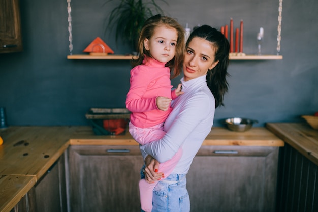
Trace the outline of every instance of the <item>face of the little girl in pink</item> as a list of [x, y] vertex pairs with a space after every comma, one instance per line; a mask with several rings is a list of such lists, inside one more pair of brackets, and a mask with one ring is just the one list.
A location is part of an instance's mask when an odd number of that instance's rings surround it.
[[178, 32], [175, 28], [157, 26], [151, 38], [144, 40], [144, 46], [155, 60], [167, 63], [176, 53], [177, 40]]

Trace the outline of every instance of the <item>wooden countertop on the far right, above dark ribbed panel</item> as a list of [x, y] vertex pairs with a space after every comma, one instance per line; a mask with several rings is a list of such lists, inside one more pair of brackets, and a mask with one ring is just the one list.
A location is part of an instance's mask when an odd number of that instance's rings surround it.
[[318, 130], [307, 123], [267, 123], [266, 128], [318, 166]]

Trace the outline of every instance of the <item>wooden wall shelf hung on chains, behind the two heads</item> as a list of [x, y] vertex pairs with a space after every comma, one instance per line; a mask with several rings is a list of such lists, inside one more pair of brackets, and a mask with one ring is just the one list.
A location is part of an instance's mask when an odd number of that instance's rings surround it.
[[[68, 55], [68, 59], [121, 59], [131, 60], [132, 55], [89, 55], [89, 54], [73, 54]], [[282, 59], [282, 55], [233, 55], [230, 54], [230, 60], [278, 60]]]

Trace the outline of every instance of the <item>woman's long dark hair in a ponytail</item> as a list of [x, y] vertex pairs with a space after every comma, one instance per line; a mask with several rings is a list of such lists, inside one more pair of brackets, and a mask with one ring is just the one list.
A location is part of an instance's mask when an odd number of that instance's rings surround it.
[[195, 37], [203, 38], [214, 46], [214, 61], [218, 61], [218, 63], [213, 69], [208, 70], [206, 82], [215, 98], [215, 108], [221, 105], [224, 106], [223, 97], [228, 91], [229, 85], [226, 79], [226, 77], [229, 76], [227, 72], [230, 52], [229, 41], [221, 32], [208, 25], [194, 28], [194, 31], [190, 34], [186, 42], [186, 46], [188, 46], [189, 42]]

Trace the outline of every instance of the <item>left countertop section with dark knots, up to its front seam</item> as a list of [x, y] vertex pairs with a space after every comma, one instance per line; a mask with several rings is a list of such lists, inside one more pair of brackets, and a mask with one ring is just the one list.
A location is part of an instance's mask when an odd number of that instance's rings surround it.
[[9, 127], [0, 131], [0, 175], [34, 176], [36, 181], [68, 148], [78, 127]]

